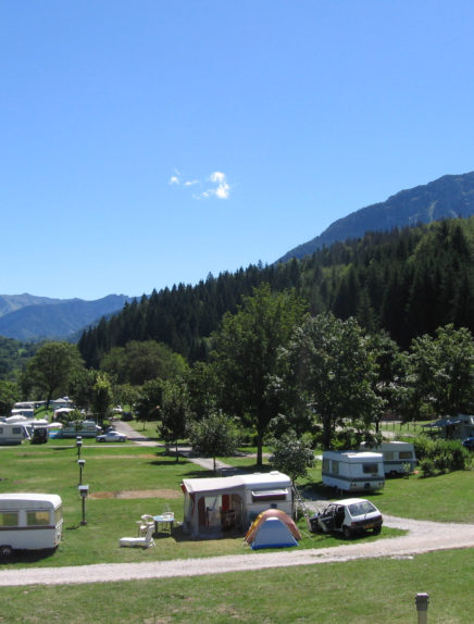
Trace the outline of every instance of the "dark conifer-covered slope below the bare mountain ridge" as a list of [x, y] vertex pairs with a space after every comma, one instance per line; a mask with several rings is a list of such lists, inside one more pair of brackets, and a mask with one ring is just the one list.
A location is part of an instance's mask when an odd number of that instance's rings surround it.
[[303, 260], [153, 291], [87, 329], [80, 352], [97, 367], [112, 347], [153, 339], [190, 361], [205, 359], [205, 338], [222, 315], [264, 282], [275, 291], [294, 288], [313, 314], [330, 310], [369, 330], [385, 328], [402, 347], [447, 323], [474, 330], [474, 217], [369, 233]]

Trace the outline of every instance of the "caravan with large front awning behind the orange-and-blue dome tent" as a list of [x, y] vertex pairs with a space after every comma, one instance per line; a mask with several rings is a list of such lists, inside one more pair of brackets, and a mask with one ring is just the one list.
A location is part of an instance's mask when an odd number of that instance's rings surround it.
[[192, 537], [223, 529], [247, 531], [265, 509], [292, 513], [291, 479], [277, 471], [183, 479], [183, 528]]

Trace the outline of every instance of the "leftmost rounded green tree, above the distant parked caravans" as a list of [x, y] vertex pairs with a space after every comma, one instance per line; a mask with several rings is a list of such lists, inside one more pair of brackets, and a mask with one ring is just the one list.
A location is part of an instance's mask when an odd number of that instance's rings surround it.
[[70, 342], [47, 342], [29, 360], [22, 376], [25, 391], [46, 392], [46, 407], [54, 392], [66, 392], [73, 375], [83, 367], [83, 361], [75, 345]]

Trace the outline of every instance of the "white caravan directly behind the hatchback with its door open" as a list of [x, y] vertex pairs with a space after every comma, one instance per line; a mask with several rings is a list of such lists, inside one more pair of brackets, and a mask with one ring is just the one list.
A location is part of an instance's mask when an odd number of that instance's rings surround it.
[[323, 484], [344, 491], [373, 491], [385, 485], [382, 453], [324, 451]]

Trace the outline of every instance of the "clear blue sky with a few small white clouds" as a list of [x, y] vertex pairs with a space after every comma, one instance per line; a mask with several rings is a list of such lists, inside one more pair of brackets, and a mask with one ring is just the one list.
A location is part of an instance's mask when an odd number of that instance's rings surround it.
[[1, 0], [0, 294], [272, 263], [474, 170], [471, 0]]

